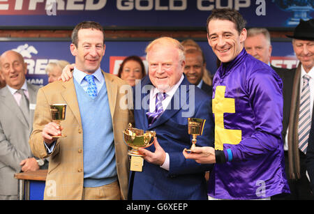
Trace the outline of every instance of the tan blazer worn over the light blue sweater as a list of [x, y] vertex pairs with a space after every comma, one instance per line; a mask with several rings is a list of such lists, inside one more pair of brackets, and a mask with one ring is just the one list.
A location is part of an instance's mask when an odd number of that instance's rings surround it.
[[[103, 75], [112, 116], [118, 180], [122, 199], [126, 199], [129, 163], [128, 147], [124, 144], [122, 130], [128, 127], [129, 122], [133, 123], [133, 112], [130, 112], [128, 107], [123, 104], [129, 101], [129, 104], [132, 105], [131, 89], [119, 77], [105, 72]], [[54, 146], [54, 151], [48, 155], [41, 132], [44, 125], [52, 121], [50, 105], [54, 103], [67, 104], [66, 120], [61, 122], [62, 133], [66, 137], [59, 138], [56, 146]], [[99, 131], [101, 131], [101, 127]], [[29, 144], [31, 151], [38, 158], [51, 157], [44, 199], [82, 199], [84, 179], [83, 131], [73, 79], [70, 79], [69, 82], [53, 82], [38, 91], [33, 132]]]

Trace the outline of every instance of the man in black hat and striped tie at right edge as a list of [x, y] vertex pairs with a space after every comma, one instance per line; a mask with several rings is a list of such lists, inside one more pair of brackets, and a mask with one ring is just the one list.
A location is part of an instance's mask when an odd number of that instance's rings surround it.
[[[287, 129], [289, 185], [292, 199], [314, 199], [306, 176], [307, 147], [313, 141], [309, 133], [311, 123], [313, 125], [314, 19], [300, 20], [293, 36], [288, 37], [292, 38], [294, 53], [300, 61], [292, 84], [290, 120]], [[311, 171], [308, 172], [311, 174]], [[313, 177], [311, 181], [313, 182]]]

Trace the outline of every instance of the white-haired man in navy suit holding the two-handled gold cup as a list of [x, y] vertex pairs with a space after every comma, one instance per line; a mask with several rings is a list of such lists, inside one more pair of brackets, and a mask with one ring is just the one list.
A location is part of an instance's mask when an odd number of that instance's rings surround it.
[[132, 199], [207, 199], [204, 171], [211, 165], [186, 160], [182, 151], [191, 146], [188, 117], [207, 120], [197, 146], [213, 146], [211, 99], [184, 77], [184, 58], [184, 47], [173, 38], [158, 38], [147, 46], [149, 76], [133, 91], [135, 128], [156, 131], [156, 139], [140, 149], [145, 161], [142, 171], [131, 173]]

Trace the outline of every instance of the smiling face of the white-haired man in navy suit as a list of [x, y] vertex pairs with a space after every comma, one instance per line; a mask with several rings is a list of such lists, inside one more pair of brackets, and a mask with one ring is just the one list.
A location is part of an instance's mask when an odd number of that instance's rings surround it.
[[156, 43], [147, 53], [149, 79], [162, 92], [179, 82], [184, 72], [184, 60], [179, 60], [179, 49], [172, 43]]

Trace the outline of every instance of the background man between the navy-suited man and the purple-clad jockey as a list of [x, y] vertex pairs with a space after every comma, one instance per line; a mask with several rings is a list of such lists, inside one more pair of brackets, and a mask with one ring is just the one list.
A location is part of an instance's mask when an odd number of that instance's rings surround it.
[[184, 73], [188, 82], [195, 84], [208, 95], [212, 95], [213, 87], [206, 84], [202, 78], [206, 71], [206, 61], [204, 54], [199, 49], [186, 50], [186, 66], [184, 67]]

